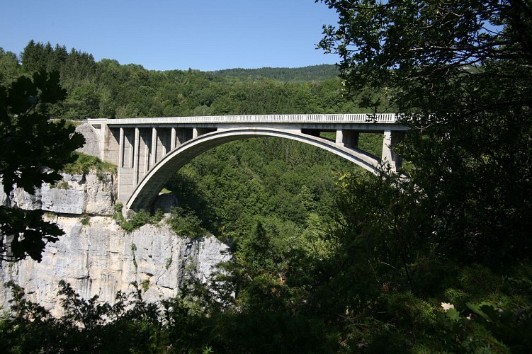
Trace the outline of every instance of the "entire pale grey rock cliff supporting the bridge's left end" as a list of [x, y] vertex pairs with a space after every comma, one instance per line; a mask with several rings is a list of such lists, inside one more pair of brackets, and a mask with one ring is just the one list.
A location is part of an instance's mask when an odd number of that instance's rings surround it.
[[217, 263], [230, 259], [228, 247], [214, 236], [183, 238], [164, 220], [125, 232], [111, 217], [115, 195], [111, 175], [64, 176], [64, 181], [58, 183], [60, 188], [43, 185], [35, 195], [22, 190], [9, 198], [0, 195], [4, 205], [55, 212], [49, 217], [65, 232], [46, 247], [40, 263], [30, 259], [0, 263], [0, 306], [4, 309], [9, 308], [11, 296], [4, 288], [8, 280], [24, 287], [31, 301], [60, 314], [60, 280], [69, 282], [85, 299], [98, 295], [110, 303], [118, 290], [130, 292], [130, 283], [137, 282], [143, 297], [154, 302], [177, 295], [187, 278], [207, 281]]

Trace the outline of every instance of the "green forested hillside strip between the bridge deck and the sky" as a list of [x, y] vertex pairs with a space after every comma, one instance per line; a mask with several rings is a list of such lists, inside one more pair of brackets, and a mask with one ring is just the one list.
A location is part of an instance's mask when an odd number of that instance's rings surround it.
[[0, 49], [0, 83], [38, 70], [60, 72], [67, 99], [55, 118], [173, 117], [276, 113], [364, 113], [342, 99], [336, 67], [157, 72], [79, 50], [30, 41], [21, 55]]

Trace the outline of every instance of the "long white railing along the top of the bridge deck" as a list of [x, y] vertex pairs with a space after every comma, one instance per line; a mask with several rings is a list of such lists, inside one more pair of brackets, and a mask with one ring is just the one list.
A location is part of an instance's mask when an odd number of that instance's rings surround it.
[[[89, 122], [93, 121], [89, 119]], [[96, 120], [94, 120], [96, 121]], [[202, 115], [196, 117], [120, 118], [108, 119], [107, 124], [165, 123], [395, 123], [395, 113], [366, 114], [278, 114], [278, 115]]]

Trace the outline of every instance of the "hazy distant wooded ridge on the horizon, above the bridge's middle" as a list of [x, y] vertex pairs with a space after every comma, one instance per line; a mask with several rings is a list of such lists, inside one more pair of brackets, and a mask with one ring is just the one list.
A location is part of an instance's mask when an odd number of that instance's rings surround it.
[[262, 67], [259, 69], [223, 69], [209, 72], [214, 76], [268, 78], [285, 82], [324, 81], [334, 79], [339, 70], [334, 64], [311, 65], [309, 67]]

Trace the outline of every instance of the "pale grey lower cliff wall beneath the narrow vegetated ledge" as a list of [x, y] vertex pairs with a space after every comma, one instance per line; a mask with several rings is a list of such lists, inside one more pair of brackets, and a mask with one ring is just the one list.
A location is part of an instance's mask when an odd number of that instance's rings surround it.
[[[0, 278], [26, 288], [28, 299], [60, 312], [57, 283], [69, 282], [81, 297], [98, 295], [113, 303], [116, 292], [129, 292], [137, 282], [143, 297], [154, 302], [174, 297], [187, 278], [206, 281], [227, 246], [214, 237], [181, 238], [162, 221], [127, 233], [110, 217], [91, 217], [84, 225], [76, 217], [57, 217], [66, 233], [46, 247], [43, 261], [1, 263]], [[0, 304], [7, 307], [9, 291], [0, 287]]]

